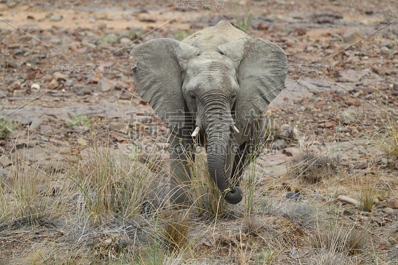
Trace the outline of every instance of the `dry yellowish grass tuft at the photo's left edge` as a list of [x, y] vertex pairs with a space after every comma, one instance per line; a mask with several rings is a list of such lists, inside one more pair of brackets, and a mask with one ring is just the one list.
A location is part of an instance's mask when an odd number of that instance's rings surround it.
[[66, 200], [55, 196], [50, 174], [25, 161], [13, 162], [13, 167], [10, 177], [0, 179], [0, 231], [57, 227]]

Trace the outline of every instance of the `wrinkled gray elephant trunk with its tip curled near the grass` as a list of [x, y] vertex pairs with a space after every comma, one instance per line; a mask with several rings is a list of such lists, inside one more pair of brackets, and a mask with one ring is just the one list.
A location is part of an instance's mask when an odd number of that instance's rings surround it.
[[224, 199], [228, 203], [236, 204], [242, 200], [242, 191], [238, 186], [231, 187], [229, 176], [225, 174], [226, 152], [232, 118], [220, 113], [212, 113], [211, 117], [213, 118], [205, 126], [208, 137], [208, 170], [218, 189], [223, 193]]

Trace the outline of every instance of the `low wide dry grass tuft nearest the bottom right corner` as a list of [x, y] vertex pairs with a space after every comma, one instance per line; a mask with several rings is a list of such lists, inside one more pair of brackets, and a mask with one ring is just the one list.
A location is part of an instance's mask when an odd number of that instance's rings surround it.
[[308, 240], [311, 247], [318, 251], [355, 255], [364, 249], [367, 237], [367, 233], [360, 228], [346, 229], [333, 222], [318, 226]]

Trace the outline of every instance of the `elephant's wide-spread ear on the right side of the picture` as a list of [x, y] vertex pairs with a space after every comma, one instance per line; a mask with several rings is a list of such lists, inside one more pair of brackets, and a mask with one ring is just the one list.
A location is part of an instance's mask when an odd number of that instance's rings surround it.
[[[278, 45], [262, 38], [241, 38], [218, 46], [238, 64], [237, 123], [251, 123], [285, 85], [287, 56]], [[249, 102], [249, 103], [248, 103]]]

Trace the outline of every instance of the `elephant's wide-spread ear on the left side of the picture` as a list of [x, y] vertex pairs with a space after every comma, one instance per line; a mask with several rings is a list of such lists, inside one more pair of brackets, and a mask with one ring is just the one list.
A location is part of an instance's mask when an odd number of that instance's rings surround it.
[[173, 122], [170, 113], [184, 111], [182, 75], [198, 53], [198, 48], [170, 38], [153, 39], [131, 51], [135, 89], [166, 122]]

